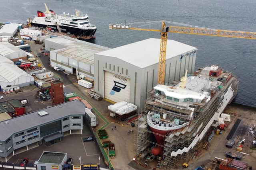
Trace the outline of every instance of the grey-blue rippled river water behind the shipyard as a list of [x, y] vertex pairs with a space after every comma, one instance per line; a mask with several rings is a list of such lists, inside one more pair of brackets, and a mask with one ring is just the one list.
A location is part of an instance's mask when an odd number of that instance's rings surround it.
[[[0, 22], [24, 23], [45, 11], [44, 3], [57, 14], [87, 13], [98, 27], [93, 43], [114, 48], [147, 38], [158, 32], [109, 30], [109, 23], [168, 20], [214, 29], [256, 31], [255, 0], [0, 0]], [[144, 25], [144, 24], [141, 24]], [[134, 25], [134, 26], [140, 26]], [[160, 24], [145, 28], [159, 29]], [[198, 48], [196, 69], [216, 64], [240, 79], [235, 101], [256, 107], [256, 40], [170, 34], [174, 39]], [[143, 49], [142, 49], [143, 50]], [[158, 57], [158, 56], [156, 56]]]

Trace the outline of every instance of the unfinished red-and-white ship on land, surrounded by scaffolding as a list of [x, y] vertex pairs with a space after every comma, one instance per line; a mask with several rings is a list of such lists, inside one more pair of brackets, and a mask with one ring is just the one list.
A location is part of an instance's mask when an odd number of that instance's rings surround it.
[[158, 84], [138, 118], [137, 159], [150, 155], [162, 166], [187, 162], [238, 91], [238, 78], [216, 65]]

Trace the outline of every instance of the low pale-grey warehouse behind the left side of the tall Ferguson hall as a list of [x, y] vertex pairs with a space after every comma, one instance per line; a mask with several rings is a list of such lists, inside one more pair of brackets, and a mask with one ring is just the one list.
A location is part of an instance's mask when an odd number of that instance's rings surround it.
[[94, 78], [94, 54], [109, 49], [66, 36], [45, 39], [45, 47], [50, 51], [52, 66], [90, 78]]

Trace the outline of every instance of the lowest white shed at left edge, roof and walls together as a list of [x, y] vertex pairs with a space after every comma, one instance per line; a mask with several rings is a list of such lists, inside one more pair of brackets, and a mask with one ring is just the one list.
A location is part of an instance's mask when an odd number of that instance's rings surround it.
[[0, 63], [0, 91], [8, 85], [24, 87], [30, 84], [34, 84], [33, 76], [14, 64]]

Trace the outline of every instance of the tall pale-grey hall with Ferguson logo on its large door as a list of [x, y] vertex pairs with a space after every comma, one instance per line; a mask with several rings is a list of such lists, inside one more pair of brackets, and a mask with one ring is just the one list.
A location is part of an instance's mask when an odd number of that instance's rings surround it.
[[[140, 112], [157, 85], [160, 39], [146, 39], [94, 55], [94, 90], [113, 102], [135, 104]], [[196, 47], [168, 40], [165, 82], [194, 73]]]

